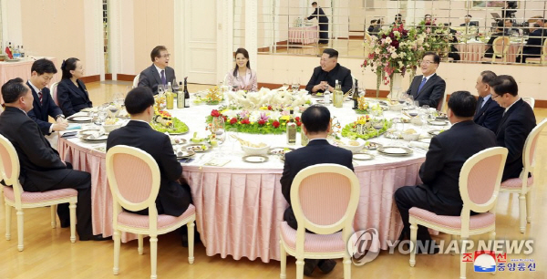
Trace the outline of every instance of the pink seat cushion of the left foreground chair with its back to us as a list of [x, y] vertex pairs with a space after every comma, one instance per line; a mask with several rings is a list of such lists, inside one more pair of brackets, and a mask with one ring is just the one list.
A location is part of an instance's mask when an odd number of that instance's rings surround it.
[[[182, 215], [179, 217], [160, 214], [158, 215], [158, 229], [163, 229], [169, 227], [176, 222], [181, 222], [181, 220], [184, 220], [195, 213], [196, 208], [191, 204], [188, 206], [186, 212], [182, 213]], [[149, 227], [149, 216], [139, 215], [131, 212], [121, 212], [118, 214], [118, 223], [133, 228], [146, 229]]]

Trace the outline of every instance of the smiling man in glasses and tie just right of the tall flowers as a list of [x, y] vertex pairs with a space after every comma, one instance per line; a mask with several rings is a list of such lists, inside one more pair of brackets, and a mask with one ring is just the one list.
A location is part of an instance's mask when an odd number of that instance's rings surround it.
[[420, 107], [428, 105], [429, 108], [439, 109], [439, 104], [447, 88], [444, 79], [436, 74], [439, 63], [440, 57], [436, 53], [426, 52], [420, 62], [422, 75], [414, 77], [407, 90], [407, 94], [417, 100]]

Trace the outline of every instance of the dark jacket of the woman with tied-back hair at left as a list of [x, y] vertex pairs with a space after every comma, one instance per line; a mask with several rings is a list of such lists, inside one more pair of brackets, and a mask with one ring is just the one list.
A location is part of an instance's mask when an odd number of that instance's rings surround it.
[[57, 85], [57, 101], [66, 117], [77, 113], [81, 109], [93, 108], [86, 85], [79, 79], [76, 82], [78, 86], [70, 78], [64, 78]]

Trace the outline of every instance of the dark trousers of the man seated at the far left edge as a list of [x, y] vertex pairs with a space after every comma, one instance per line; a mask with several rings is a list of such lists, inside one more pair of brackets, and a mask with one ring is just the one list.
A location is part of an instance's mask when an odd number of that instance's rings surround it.
[[[77, 191], [76, 207], [76, 231], [80, 239], [88, 238], [93, 235], [93, 226], [91, 224], [91, 174], [86, 171], [74, 171], [72, 165], [67, 162], [68, 171], [65, 179], [49, 187], [43, 184], [36, 184], [31, 180], [25, 181], [25, 191], [52, 191], [60, 189], [75, 189]], [[70, 222], [70, 212], [68, 203], [57, 205], [57, 215], [61, 223]]]

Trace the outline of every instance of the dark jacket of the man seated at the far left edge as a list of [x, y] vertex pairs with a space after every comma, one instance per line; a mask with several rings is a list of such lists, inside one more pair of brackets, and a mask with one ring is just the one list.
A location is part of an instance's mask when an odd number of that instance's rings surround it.
[[[21, 174], [19, 181], [25, 191], [46, 191], [65, 179], [71, 170], [59, 158], [57, 150], [44, 137], [42, 130], [23, 110], [6, 107], [0, 115], [0, 134], [17, 151]], [[26, 189], [26, 181], [39, 189]]]

